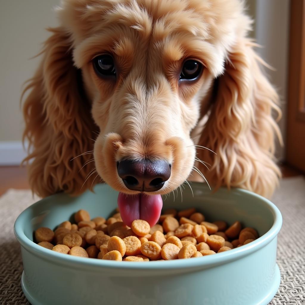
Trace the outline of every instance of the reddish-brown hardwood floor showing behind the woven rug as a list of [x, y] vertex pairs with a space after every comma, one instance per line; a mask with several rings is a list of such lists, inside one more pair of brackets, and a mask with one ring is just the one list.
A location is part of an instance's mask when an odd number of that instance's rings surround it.
[[[302, 174], [299, 170], [287, 164], [282, 164], [280, 167], [283, 177], [294, 177]], [[9, 188], [29, 188], [25, 167], [0, 166], [0, 195], [4, 194]]]

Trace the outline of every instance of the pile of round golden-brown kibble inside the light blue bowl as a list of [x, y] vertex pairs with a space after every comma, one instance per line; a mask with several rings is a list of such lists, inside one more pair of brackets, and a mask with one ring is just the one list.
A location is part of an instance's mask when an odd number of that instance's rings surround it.
[[87, 211], [79, 210], [74, 218], [76, 223], [63, 221], [55, 231], [38, 228], [34, 232], [38, 245], [78, 257], [148, 262], [204, 257], [241, 247], [259, 237], [254, 228], [242, 229], [239, 221], [231, 225], [223, 220], [208, 222], [194, 208], [165, 210], [152, 227], [140, 219], [128, 227], [119, 210], [108, 219], [91, 219]]

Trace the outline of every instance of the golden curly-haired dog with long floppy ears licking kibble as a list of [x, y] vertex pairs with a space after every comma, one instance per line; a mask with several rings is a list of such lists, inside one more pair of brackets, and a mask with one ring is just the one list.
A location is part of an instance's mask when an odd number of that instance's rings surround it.
[[153, 223], [160, 195], [191, 178], [272, 194], [281, 111], [243, 1], [63, 0], [56, 11], [24, 90], [35, 193], [104, 181], [127, 224]]

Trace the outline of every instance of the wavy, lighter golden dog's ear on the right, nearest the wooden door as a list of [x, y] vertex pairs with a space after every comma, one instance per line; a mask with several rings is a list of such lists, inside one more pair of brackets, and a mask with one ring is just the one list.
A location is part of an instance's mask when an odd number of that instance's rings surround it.
[[210, 170], [200, 169], [214, 187], [241, 187], [268, 197], [281, 175], [273, 156], [275, 135], [282, 140], [271, 112], [281, 113], [254, 45], [242, 38], [232, 48], [198, 143], [216, 154], [200, 149], [198, 156], [210, 163]]

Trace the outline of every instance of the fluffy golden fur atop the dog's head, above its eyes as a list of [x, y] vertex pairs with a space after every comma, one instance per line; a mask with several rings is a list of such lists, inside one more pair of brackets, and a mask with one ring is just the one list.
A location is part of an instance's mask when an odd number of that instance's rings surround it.
[[139, 45], [149, 41], [174, 60], [186, 50], [200, 53], [216, 77], [223, 72], [231, 46], [250, 29], [249, 18], [240, 19], [243, 6], [240, 0], [64, 0], [58, 13], [71, 34], [78, 67], [104, 47], [102, 34], [115, 42], [114, 53], [132, 53], [137, 46], [126, 33], [133, 31]]

